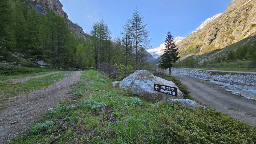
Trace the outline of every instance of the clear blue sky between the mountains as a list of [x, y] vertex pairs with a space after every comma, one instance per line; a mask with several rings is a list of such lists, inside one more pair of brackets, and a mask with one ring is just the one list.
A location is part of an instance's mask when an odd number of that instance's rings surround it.
[[232, 0], [60, 0], [68, 18], [90, 32], [92, 24], [103, 18], [112, 37], [120, 31], [134, 8], [138, 8], [148, 24], [152, 48], [165, 40], [168, 30], [174, 37], [185, 37], [203, 21], [222, 13]]

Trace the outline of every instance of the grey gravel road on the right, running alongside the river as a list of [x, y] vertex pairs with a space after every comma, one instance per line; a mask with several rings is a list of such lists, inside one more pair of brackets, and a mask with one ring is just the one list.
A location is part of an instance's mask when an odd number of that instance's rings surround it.
[[245, 99], [228, 93], [224, 88], [209, 81], [172, 73], [173, 77], [190, 90], [190, 94], [202, 105], [217, 111], [227, 113], [231, 117], [240, 119], [256, 126], [256, 101]]

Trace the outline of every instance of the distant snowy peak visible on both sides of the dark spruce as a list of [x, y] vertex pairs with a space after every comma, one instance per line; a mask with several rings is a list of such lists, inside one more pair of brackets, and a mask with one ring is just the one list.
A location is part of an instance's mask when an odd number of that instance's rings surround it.
[[[179, 43], [180, 41], [182, 41], [183, 39], [185, 39], [185, 37], [176, 37], [174, 38], [174, 42], [175, 44]], [[147, 49], [147, 51], [153, 56], [153, 58], [157, 59], [160, 55], [162, 55], [164, 53], [165, 50], [165, 46], [164, 43], [161, 44], [159, 47], [157, 48], [153, 48], [153, 49]]]

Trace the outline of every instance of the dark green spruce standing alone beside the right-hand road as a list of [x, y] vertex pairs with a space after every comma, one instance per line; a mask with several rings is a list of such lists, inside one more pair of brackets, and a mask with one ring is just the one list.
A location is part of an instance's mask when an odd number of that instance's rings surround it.
[[161, 55], [162, 61], [160, 61], [159, 67], [165, 69], [168, 68], [169, 76], [171, 76], [172, 64], [179, 59], [179, 52], [177, 51], [178, 49], [176, 49], [176, 45], [170, 31], [167, 32], [166, 40], [164, 42], [165, 50]]

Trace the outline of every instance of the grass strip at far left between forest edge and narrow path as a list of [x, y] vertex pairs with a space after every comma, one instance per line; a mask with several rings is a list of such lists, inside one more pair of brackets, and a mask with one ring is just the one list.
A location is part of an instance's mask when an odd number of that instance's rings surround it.
[[27, 76], [42, 75], [58, 70], [47, 68], [28, 68], [14, 65], [0, 65], [0, 81], [7, 79], [25, 78]]

